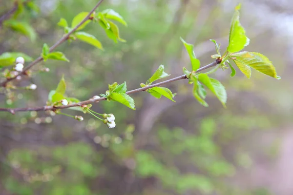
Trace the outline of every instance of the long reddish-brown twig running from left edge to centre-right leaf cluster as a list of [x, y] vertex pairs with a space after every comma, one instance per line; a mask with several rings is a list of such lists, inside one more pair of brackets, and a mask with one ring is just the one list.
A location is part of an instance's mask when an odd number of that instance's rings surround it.
[[[212, 63], [203, 66], [201, 68], [199, 68], [196, 72], [201, 72], [203, 70], [206, 70], [208, 68], [211, 68], [213, 66], [216, 66], [217, 64], [221, 63], [221, 60], [215, 60]], [[175, 77], [175, 78], [170, 78], [168, 80], [162, 81], [162, 82], [158, 82], [152, 85], [148, 85], [146, 87], [142, 87], [142, 88], [137, 88], [137, 89], [133, 89], [130, 91], [127, 91], [126, 94], [134, 94], [137, 92], [142, 92], [142, 91], [146, 91], [147, 89], [153, 88], [153, 87], [157, 87], [157, 86], [161, 86], [170, 82], [174, 82], [177, 80], [181, 80], [181, 79], [186, 79], [187, 76], [186, 75], [182, 75], [179, 77]], [[35, 108], [0, 108], [0, 111], [6, 111], [6, 112], [10, 112], [11, 114], [15, 114], [16, 112], [26, 112], [26, 111], [47, 111], [47, 110], [57, 110], [57, 109], [65, 109], [65, 108], [70, 108], [70, 107], [79, 107], [82, 105], [87, 105], [90, 103], [94, 103], [94, 102], [99, 102], [102, 100], [106, 100], [106, 98], [99, 98], [99, 99], [88, 99], [85, 101], [81, 101], [78, 103], [72, 103], [72, 104], [68, 104], [66, 106], [43, 106], [43, 107], [35, 107]]]

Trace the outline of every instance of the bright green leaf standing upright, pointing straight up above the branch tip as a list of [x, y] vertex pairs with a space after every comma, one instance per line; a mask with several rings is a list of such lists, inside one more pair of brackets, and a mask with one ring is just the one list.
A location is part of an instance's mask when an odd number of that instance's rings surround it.
[[231, 21], [229, 45], [227, 48], [227, 51], [230, 53], [239, 52], [250, 42], [250, 39], [246, 37], [245, 30], [239, 21], [240, 6], [241, 4], [235, 7], [235, 12]]

